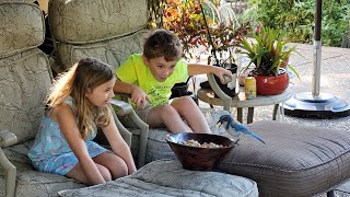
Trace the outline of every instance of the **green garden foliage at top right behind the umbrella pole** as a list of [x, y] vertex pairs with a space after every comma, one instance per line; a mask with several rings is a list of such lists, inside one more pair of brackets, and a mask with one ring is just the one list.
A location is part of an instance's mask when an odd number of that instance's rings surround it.
[[[314, 39], [315, 0], [249, 0], [250, 8], [242, 16], [281, 30], [289, 42]], [[340, 46], [350, 21], [349, 0], [323, 1], [322, 43]]]

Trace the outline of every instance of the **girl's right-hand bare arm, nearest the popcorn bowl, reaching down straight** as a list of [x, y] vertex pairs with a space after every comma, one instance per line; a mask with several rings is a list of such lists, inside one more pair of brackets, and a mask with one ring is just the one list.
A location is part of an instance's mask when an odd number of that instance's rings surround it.
[[132, 174], [133, 172], [136, 172], [137, 169], [135, 166], [130, 148], [122, 139], [112, 115], [109, 125], [103, 127], [102, 130], [105, 134], [113, 152], [120, 157], [128, 165], [128, 174]]

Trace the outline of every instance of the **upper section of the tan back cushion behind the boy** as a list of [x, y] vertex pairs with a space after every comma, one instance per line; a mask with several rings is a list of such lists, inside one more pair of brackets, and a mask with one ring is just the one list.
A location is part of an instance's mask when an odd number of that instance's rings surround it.
[[148, 22], [145, 0], [50, 0], [48, 12], [52, 36], [71, 44], [120, 37]]

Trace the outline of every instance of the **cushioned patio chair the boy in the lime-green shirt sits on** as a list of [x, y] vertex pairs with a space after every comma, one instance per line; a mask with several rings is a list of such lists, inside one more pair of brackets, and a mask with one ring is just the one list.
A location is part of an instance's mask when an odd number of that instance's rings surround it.
[[[103, 4], [103, 9], [101, 8]], [[116, 69], [133, 53], [142, 53], [148, 35], [148, 7], [144, 0], [50, 0], [48, 19], [54, 39], [55, 63], [52, 69], [61, 72], [84, 57], [94, 57]], [[214, 111], [212, 111], [214, 112]], [[165, 141], [166, 128], [149, 129], [139, 118], [119, 117], [130, 131], [131, 152], [141, 167], [156, 159], [174, 158], [173, 151], [163, 150], [158, 141]], [[218, 115], [208, 114], [208, 117]], [[213, 125], [213, 118], [208, 118]], [[129, 139], [129, 138], [128, 138]], [[153, 143], [154, 141], [154, 143]], [[150, 142], [150, 143], [149, 143]], [[167, 148], [167, 147], [166, 147]]]

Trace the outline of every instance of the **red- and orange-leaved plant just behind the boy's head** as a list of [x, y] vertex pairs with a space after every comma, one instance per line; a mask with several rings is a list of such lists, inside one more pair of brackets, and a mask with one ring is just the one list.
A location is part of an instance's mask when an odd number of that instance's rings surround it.
[[[219, 8], [220, 4], [214, 5]], [[206, 48], [211, 50], [208, 65], [224, 67], [236, 73], [234, 49], [250, 31], [250, 25], [246, 22], [236, 26], [235, 21], [214, 20], [218, 18], [211, 14], [219, 13], [218, 8], [210, 8], [202, 0], [167, 0], [163, 9], [163, 27], [178, 36], [186, 59], [194, 59], [194, 55], [201, 54], [198, 53], [199, 48]], [[205, 83], [205, 86], [210, 88], [208, 82]], [[228, 84], [218, 84], [228, 95], [236, 94], [233, 85], [229, 88]]]

